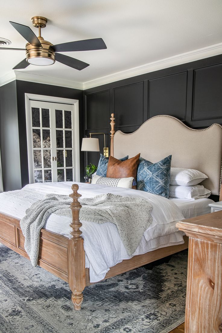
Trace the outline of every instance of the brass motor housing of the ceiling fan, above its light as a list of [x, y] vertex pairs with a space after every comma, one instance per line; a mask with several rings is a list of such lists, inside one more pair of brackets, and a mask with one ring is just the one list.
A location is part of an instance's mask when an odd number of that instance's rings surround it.
[[40, 43], [42, 44], [41, 47], [33, 46], [30, 43], [26, 44], [26, 61], [28, 62], [28, 59], [30, 58], [49, 58], [53, 60], [53, 64], [55, 62], [55, 51], [51, 49], [51, 46], [53, 46], [52, 43], [45, 41], [43, 37], [38, 37]]

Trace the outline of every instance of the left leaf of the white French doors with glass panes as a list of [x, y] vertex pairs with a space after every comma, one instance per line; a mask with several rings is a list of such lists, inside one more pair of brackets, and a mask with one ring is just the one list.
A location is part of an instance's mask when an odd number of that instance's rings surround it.
[[51, 104], [30, 101], [34, 182], [52, 181]]

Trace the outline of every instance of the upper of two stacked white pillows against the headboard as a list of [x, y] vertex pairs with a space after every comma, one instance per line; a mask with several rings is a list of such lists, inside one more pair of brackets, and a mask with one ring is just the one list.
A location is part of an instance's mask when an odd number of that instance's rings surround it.
[[208, 177], [204, 173], [195, 169], [185, 169], [180, 167], [170, 168], [170, 185], [197, 185], [206, 178]]

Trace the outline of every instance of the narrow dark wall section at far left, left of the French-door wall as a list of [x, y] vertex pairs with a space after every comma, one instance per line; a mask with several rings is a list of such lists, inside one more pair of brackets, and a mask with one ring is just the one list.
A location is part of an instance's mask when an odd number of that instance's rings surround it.
[[0, 149], [5, 191], [21, 188], [16, 82], [0, 87]]

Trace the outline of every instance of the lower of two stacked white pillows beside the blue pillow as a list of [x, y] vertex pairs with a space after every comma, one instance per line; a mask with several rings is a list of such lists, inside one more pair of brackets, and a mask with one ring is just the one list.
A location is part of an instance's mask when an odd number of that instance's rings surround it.
[[169, 197], [179, 199], [201, 199], [208, 198], [211, 191], [206, 189], [203, 185], [195, 186], [177, 186], [169, 185]]

